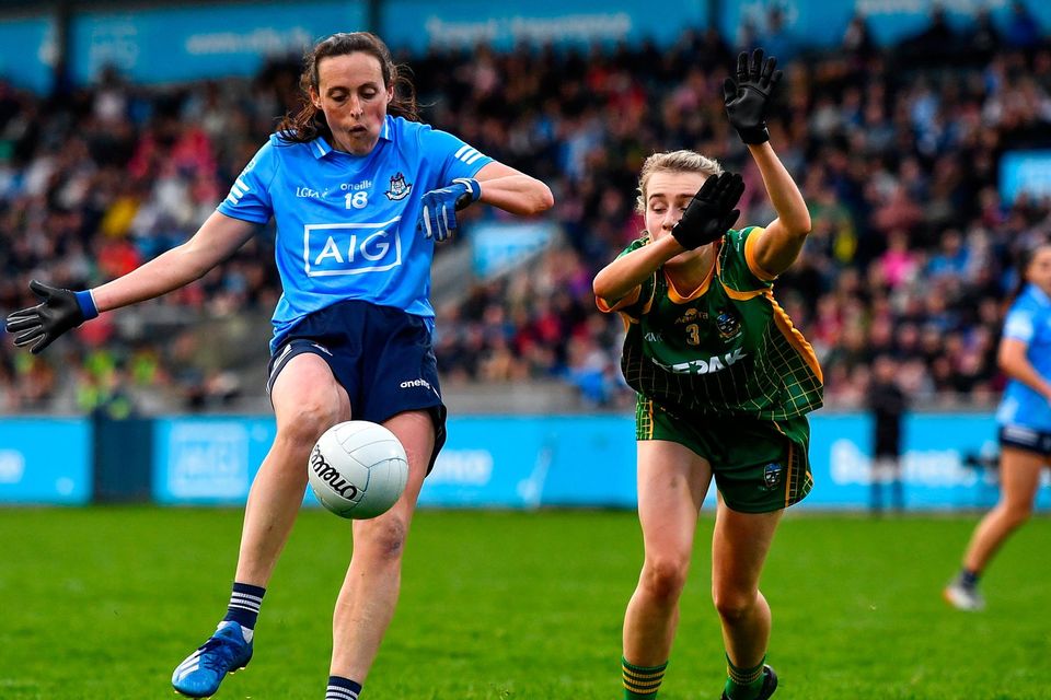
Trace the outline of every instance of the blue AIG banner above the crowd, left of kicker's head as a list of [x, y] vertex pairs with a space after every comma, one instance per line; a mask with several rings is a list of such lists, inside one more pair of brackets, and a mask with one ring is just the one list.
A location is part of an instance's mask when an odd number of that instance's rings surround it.
[[361, 28], [363, 1], [78, 12], [70, 66], [79, 84], [106, 66], [137, 82], [251, 75], [268, 57], [299, 57], [321, 37]]

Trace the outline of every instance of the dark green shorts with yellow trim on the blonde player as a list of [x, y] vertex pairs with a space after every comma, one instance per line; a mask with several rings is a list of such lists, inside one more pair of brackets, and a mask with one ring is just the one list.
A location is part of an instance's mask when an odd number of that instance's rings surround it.
[[723, 501], [741, 513], [788, 508], [813, 488], [806, 416], [773, 421], [672, 415], [639, 396], [635, 439], [679, 443], [706, 459]]

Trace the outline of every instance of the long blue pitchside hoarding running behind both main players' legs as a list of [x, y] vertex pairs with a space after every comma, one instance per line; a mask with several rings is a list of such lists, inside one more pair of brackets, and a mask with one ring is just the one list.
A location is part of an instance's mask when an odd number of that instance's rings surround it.
[[[811, 421], [815, 488], [800, 509], [865, 509], [871, 497], [871, 422], [859, 413]], [[157, 422], [153, 495], [160, 503], [243, 503], [275, 435], [270, 418]], [[419, 502], [439, 508], [634, 508], [630, 416], [500, 416], [449, 420], [449, 440]], [[996, 454], [991, 415], [913, 415], [902, 457], [905, 508], [988, 508], [996, 474], [969, 457]], [[2, 453], [0, 453], [2, 456]], [[0, 459], [0, 465], [2, 465]], [[0, 478], [2, 478], [0, 466]], [[887, 499], [885, 499], [886, 501]], [[308, 503], [314, 503], [308, 493]], [[712, 489], [706, 505], [715, 503]], [[1051, 508], [1051, 489], [1037, 506]]]

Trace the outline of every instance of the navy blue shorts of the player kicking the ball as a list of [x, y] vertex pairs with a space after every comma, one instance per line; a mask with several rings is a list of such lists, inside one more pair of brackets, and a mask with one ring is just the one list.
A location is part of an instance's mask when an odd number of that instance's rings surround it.
[[426, 410], [435, 423], [435, 451], [446, 443], [446, 406], [430, 328], [420, 316], [391, 306], [347, 300], [307, 316], [281, 339], [270, 357], [267, 394], [288, 361], [310, 352], [328, 363], [350, 397], [350, 416], [382, 423], [412, 410]]

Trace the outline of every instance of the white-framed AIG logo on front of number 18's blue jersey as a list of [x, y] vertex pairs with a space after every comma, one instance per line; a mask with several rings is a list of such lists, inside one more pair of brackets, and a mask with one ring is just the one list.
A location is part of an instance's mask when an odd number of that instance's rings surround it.
[[303, 226], [308, 277], [384, 272], [402, 264], [401, 217], [378, 223], [316, 223]]

